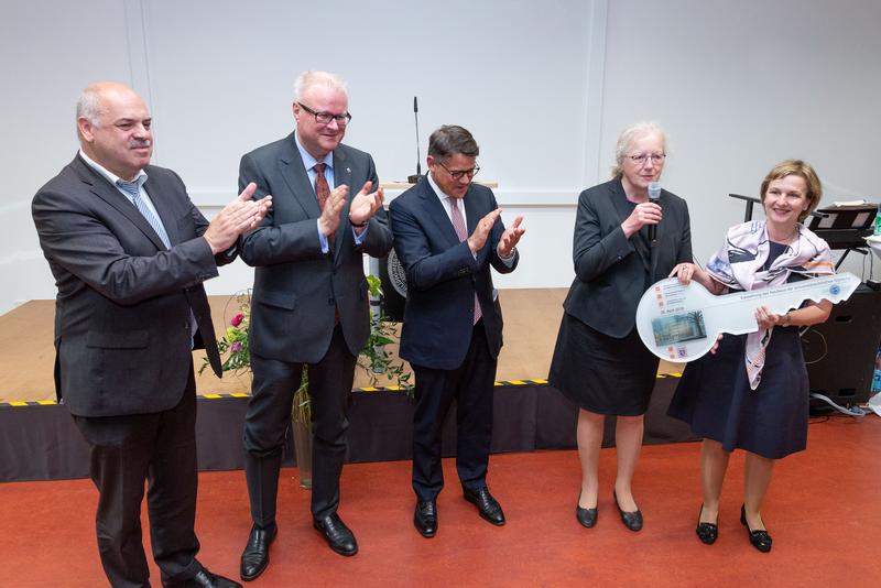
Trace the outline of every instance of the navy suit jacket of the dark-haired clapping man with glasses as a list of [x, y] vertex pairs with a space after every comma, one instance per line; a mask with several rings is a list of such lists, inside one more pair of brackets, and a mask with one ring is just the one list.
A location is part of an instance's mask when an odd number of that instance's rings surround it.
[[[471, 184], [465, 195], [468, 233], [477, 221], [498, 208], [492, 190]], [[502, 313], [492, 287], [490, 265], [510, 273], [497, 253], [504, 232], [499, 219], [483, 248], [471, 254], [425, 177], [389, 206], [394, 251], [406, 272], [406, 305], [401, 331], [401, 357], [417, 366], [440, 370], [459, 367], [471, 340], [475, 292], [492, 357], [502, 347]]]

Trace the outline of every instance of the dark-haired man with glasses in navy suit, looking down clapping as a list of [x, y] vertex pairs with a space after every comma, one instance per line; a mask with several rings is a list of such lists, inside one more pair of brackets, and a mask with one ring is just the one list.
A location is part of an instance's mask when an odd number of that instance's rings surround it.
[[492, 392], [502, 315], [490, 265], [512, 272], [522, 217], [505, 229], [492, 190], [474, 184], [479, 149], [471, 133], [444, 126], [428, 140], [428, 173], [390, 207], [394, 250], [406, 272], [401, 357], [416, 375], [413, 522], [437, 531], [444, 486], [440, 431], [456, 400], [456, 469], [465, 499], [496, 525], [504, 513], [487, 488]]

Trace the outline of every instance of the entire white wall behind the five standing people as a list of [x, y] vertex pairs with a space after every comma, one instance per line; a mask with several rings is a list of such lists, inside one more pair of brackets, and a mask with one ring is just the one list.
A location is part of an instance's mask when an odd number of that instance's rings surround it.
[[[727, 194], [755, 194], [782, 159], [816, 165], [824, 202], [877, 198], [880, 22], [874, 0], [3, 0], [0, 313], [54, 296], [30, 200], [73, 157], [74, 102], [96, 79], [142, 94], [154, 163], [208, 216], [235, 195], [241, 154], [291, 131], [302, 69], [349, 81], [346, 141], [382, 181], [414, 172], [416, 95], [423, 157], [437, 126], [469, 128], [504, 217], [526, 218], [499, 284], [565, 286], [577, 195], [634, 120], [668, 131], [663, 181], [689, 203], [699, 260], [742, 218]], [[207, 285], [250, 282], [238, 262]]]

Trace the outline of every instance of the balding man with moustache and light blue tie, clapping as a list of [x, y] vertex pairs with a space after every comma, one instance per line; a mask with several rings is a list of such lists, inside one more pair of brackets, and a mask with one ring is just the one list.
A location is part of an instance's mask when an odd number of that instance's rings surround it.
[[150, 586], [141, 540], [144, 480], [164, 586], [239, 586], [196, 560], [194, 347], [219, 377], [202, 283], [235, 258], [269, 198], [248, 186], [209, 224], [181, 178], [150, 165], [152, 119], [120, 84], [77, 102], [80, 151], [32, 211], [58, 288], [55, 381], [90, 446], [101, 564], [113, 586]]

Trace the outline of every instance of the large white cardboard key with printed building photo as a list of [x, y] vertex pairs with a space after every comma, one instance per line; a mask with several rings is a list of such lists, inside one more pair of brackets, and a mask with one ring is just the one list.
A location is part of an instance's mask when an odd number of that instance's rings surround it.
[[715, 296], [692, 282], [661, 280], [642, 295], [637, 307], [637, 328], [645, 347], [667, 361], [686, 362], [704, 356], [722, 333], [742, 335], [759, 329], [755, 311], [766, 306], [783, 314], [805, 301], [847, 300], [859, 279], [852, 273], [813, 277], [781, 286]]

